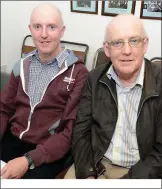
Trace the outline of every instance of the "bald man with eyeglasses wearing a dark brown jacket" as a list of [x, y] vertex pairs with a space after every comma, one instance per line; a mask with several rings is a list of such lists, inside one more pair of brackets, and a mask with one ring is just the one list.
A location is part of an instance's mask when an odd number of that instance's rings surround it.
[[162, 177], [162, 66], [144, 58], [148, 41], [133, 15], [107, 26], [103, 46], [111, 61], [89, 73], [65, 178]]

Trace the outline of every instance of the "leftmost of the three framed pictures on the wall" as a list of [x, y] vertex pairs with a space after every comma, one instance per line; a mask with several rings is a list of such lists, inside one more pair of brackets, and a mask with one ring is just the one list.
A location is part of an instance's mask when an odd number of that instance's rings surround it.
[[98, 1], [77, 0], [70, 3], [71, 12], [98, 14]]

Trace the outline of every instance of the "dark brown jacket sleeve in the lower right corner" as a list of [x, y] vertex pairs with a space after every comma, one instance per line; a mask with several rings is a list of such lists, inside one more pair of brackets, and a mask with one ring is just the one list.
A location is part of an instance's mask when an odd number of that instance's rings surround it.
[[[145, 160], [139, 160], [132, 166], [125, 179], [156, 179], [162, 178], [162, 100], [156, 121], [156, 142]], [[160, 176], [161, 175], [161, 176]]]

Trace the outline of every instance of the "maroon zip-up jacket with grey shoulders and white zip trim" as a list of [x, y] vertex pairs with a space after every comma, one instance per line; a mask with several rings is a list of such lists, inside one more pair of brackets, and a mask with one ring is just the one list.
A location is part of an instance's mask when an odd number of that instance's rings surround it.
[[11, 125], [14, 136], [36, 144], [36, 149], [29, 154], [34, 165], [39, 166], [62, 158], [71, 148], [77, 104], [88, 71], [69, 51], [67, 60], [48, 85], [41, 102], [31, 107], [27, 87], [32, 55], [28, 54], [15, 64], [1, 93], [0, 139]]

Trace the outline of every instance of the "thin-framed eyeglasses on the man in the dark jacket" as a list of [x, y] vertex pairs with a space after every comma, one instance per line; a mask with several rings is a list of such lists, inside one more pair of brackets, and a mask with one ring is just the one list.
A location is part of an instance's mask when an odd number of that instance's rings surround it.
[[130, 38], [128, 39], [128, 41], [124, 41], [120, 39], [120, 40], [106, 42], [106, 43], [110, 45], [112, 49], [121, 49], [125, 43], [129, 43], [131, 47], [138, 48], [138, 47], [141, 47], [141, 45], [146, 42], [146, 39], [147, 39], [146, 37], [145, 38], [136, 37], [136, 38]]

